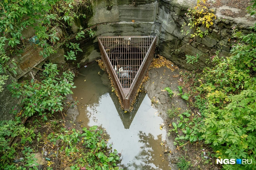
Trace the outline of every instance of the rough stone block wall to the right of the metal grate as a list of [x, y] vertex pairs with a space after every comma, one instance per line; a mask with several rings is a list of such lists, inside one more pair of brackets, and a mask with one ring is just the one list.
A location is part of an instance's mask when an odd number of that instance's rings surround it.
[[[203, 38], [190, 39], [182, 35], [181, 26], [187, 19], [185, 13], [188, 7], [196, 4], [196, 0], [160, 0], [158, 5], [158, 15], [156, 27], [159, 36], [158, 53], [174, 64], [187, 70], [200, 69], [206, 66], [212, 66], [210, 57], [215, 55], [217, 50], [220, 56], [229, 56], [233, 40], [232, 28], [248, 30], [253, 22], [246, 18], [232, 18], [222, 16], [219, 9], [215, 9], [218, 17], [209, 33]], [[185, 28], [189, 29], [189, 28]], [[205, 28], [201, 28], [205, 30]], [[192, 33], [192, 32], [190, 32]], [[179, 49], [178, 51], [175, 51]], [[187, 64], [185, 55], [194, 56], [199, 54], [199, 61], [194, 64]]]

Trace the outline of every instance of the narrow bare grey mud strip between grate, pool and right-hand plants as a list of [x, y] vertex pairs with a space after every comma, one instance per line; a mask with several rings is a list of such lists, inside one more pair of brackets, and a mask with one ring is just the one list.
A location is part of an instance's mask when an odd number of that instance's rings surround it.
[[[152, 105], [158, 109], [158, 116], [164, 120], [164, 128], [167, 133], [172, 129], [172, 122], [178, 120], [178, 114], [188, 109], [187, 102], [179, 95], [178, 86], [183, 82], [180, 71], [182, 69], [175, 66], [171, 61], [164, 59], [162, 56], [154, 59], [148, 71], [148, 81], [144, 84], [144, 90], [148, 93]], [[172, 97], [164, 90], [166, 87], [173, 91]], [[172, 114], [171, 114], [171, 113]], [[169, 116], [168, 116], [169, 114]], [[171, 115], [170, 115], [171, 114]], [[169, 162], [175, 163], [180, 153], [174, 145], [176, 135], [167, 136], [166, 144], [171, 153], [169, 153]], [[177, 169], [172, 164], [172, 169]]]

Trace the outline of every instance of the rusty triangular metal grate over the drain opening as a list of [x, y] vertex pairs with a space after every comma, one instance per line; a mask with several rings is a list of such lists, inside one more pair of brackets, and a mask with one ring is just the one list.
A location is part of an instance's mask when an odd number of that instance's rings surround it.
[[98, 37], [98, 42], [103, 61], [127, 110], [153, 59], [156, 36]]

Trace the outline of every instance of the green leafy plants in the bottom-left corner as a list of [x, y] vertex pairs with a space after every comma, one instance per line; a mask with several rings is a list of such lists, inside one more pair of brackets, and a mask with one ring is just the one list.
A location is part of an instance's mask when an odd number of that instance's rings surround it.
[[[16, 151], [25, 144], [31, 143], [35, 136], [34, 128], [24, 127], [19, 118], [0, 122], [0, 168], [6, 170], [21, 169], [20, 166], [13, 162], [17, 156]], [[10, 145], [14, 137], [15, 142]], [[23, 158], [25, 157], [25, 159], [20, 161], [23, 162], [25, 167], [33, 164], [36, 165], [34, 154], [31, 154], [32, 151], [30, 147], [24, 147], [22, 151]]]

